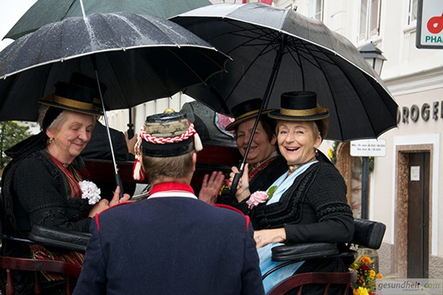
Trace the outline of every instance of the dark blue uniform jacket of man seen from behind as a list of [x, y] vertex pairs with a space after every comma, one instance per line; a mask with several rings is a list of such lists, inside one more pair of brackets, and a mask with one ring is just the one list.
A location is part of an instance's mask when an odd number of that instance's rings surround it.
[[264, 294], [252, 226], [194, 198], [151, 198], [97, 215], [74, 294]]

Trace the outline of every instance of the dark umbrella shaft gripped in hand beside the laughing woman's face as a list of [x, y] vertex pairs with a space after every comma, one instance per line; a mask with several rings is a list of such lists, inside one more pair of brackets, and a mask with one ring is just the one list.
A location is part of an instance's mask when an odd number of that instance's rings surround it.
[[262, 117], [262, 112], [265, 110], [265, 107], [267, 107], [267, 104], [269, 102], [270, 94], [272, 92], [272, 88], [274, 87], [274, 82], [277, 79], [277, 73], [280, 68], [280, 64], [282, 63], [282, 57], [284, 53], [284, 46], [287, 41], [287, 36], [283, 36], [282, 42], [280, 43], [279, 49], [277, 50], [277, 55], [275, 55], [274, 65], [272, 66], [272, 72], [269, 76], [269, 80], [267, 82], [265, 95], [263, 95], [263, 102], [260, 106], [260, 110], [258, 111], [257, 118], [254, 122], [254, 127], [252, 127], [251, 136], [249, 138], [249, 141], [247, 141], [247, 146], [245, 150], [245, 155], [243, 156], [242, 162], [240, 163], [240, 168], [238, 169], [238, 173], [235, 173], [235, 176], [233, 178], [233, 183], [230, 187], [230, 196], [235, 197], [235, 193], [237, 192], [237, 186], [238, 182], [240, 181], [240, 178], [243, 175], [243, 171], [245, 171], [245, 163], [247, 159], [247, 154], [249, 153], [250, 147], [252, 145], [252, 141], [254, 139], [255, 131], [257, 130], [258, 122], [260, 122], [260, 117]]

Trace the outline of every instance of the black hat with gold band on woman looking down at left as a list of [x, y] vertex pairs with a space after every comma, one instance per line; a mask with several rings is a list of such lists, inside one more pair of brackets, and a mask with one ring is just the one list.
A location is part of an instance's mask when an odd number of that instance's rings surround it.
[[[105, 92], [106, 86], [100, 83], [100, 87], [102, 93]], [[94, 104], [94, 100], [100, 101], [98, 97], [100, 92], [97, 80], [80, 73], [73, 73], [69, 82], [56, 82], [55, 92], [41, 98], [39, 102], [74, 112], [102, 115], [103, 112]]]

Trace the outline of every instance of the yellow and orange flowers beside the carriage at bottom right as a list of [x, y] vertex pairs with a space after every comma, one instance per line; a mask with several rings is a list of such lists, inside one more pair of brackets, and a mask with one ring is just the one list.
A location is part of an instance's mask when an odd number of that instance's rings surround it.
[[357, 281], [353, 283], [353, 295], [374, 295], [375, 279], [383, 276], [375, 272], [374, 263], [370, 257], [362, 256], [351, 265], [357, 272]]

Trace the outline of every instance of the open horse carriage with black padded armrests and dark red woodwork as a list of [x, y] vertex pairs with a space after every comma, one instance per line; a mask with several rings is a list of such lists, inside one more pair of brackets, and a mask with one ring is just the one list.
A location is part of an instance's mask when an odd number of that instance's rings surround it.
[[[197, 168], [191, 183], [196, 194], [198, 194], [198, 191], [200, 190], [203, 176], [206, 173], [210, 173], [214, 170], [228, 173], [230, 167], [237, 165], [239, 160], [240, 154], [234, 146], [206, 144], [203, 151], [198, 154]], [[100, 183], [105, 189], [114, 188], [112, 161], [86, 159], [85, 164], [90, 172], [91, 181]], [[123, 187], [133, 188], [135, 185], [132, 178], [133, 163], [130, 161], [119, 162], [118, 166]], [[146, 181], [142, 183], [147, 184]], [[378, 249], [383, 240], [385, 225], [380, 222], [356, 219], [355, 229], [356, 231], [353, 235], [353, 240], [348, 243], [346, 249], [338, 249], [337, 245], [333, 243], [284, 245], [273, 248], [272, 259], [275, 261], [284, 261], [285, 263], [282, 264], [282, 266], [284, 266], [306, 259], [324, 259], [325, 257], [338, 256], [342, 257], [348, 265], [351, 265], [356, 255], [356, 251], [352, 250], [351, 246], [368, 247], [375, 250]], [[52, 228], [34, 226], [28, 239], [1, 235], [1, 240], [14, 240], [28, 245], [36, 243], [63, 250], [85, 252], [89, 237], [89, 234], [82, 232], [70, 232], [68, 230], [55, 230]], [[80, 275], [80, 267], [68, 262], [55, 260], [0, 257], [0, 268], [2, 271], [6, 270], [5, 286], [2, 286], [6, 295], [14, 294], [14, 282], [11, 277], [11, 272], [33, 272], [35, 294], [43, 294], [38, 280], [38, 272], [48, 271], [63, 274], [66, 277], [66, 294], [71, 294], [73, 287], [75, 286], [75, 281]], [[263, 279], [274, 272], [274, 270], [276, 269], [264, 274]], [[344, 294], [351, 294], [351, 285], [354, 281], [356, 281], [356, 273], [353, 271], [342, 273], [316, 272], [297, 274], [281, 281], [269, 292], [269, 294], [286, 294], [289, 290], [297, 290], [297, 294], [301, 294], [303, 286], [306, 284], [324, 285], [324, 294], [329, 294], [328, 291], [330, 286], [341, 284], [346, 286]]]

